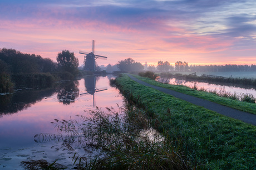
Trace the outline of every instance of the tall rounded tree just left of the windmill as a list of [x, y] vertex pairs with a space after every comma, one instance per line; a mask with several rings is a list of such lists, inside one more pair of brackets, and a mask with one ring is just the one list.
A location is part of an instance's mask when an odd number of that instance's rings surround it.
[[58, 53], [56, 60], [61, 71], [68, 71], [73, 75], [78, 73], [78, 58], [73, 52], [62, 50], [61, 53]]

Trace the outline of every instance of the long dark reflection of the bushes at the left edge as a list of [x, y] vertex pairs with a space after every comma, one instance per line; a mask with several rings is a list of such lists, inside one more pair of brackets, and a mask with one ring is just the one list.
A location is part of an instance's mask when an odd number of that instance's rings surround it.
[[0, 95], [0, 117], [27, 109], [43, 98], [51, 96], [54, 92], [54, 88], [48, 88], [42, 90], [23, 90], [13, 94]]

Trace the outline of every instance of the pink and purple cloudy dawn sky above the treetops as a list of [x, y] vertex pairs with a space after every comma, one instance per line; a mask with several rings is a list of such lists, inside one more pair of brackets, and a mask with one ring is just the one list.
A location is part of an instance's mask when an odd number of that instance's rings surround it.
[[0, 48], [192, 65], [256, 64], [255, 0], [0, 0]]

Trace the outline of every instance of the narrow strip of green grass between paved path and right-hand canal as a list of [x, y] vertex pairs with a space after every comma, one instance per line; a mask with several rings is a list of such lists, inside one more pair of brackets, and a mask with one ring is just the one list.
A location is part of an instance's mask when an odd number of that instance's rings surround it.
[[220, 97], [220, 96], [218, 96], [216, 94], [213, 94], [211, 92], [198, 91], [198, 90], [191, 89], [190, 87], [186, 87], [186, 86], [183, 86], [183, 85], [163, 84], [163, 83], [159, 83], [157, 81], [154, 81], [154, 80], [151, 80], [151, 79], [148, 79], [148, 78], [142, 78], [141, 76], [137, 76], [137, 75], [133, 75], [133, 76], [135, 76], [137, 79], [140, 79], [142, 81], [145, 81], [146, 83], [149, 83], [149, 84], [152, 84], [152, 85], [155, 85], [155, 86], [164, 87], [166, 89], [171, 89], [171, 90], [174, 90], [174, 91], [178, 91], [178, 92], [181, 92], [183, 94], [187, 94], [187, 95], [199, 97], [201, 99], [213, 101], [213, 102], [218, 103], [220, 105], [232, 107], [232, 108], [237, 109], [237, 110], [241, 110], [241, 111], [249, 112], [249, 113], [252, 113], [252, 114], [256, 114], [256, 105], [252, 104], [252, 103], [249, 103], [249, 102], [233, 100], [233, 99], [229, 99], [227, 97]]

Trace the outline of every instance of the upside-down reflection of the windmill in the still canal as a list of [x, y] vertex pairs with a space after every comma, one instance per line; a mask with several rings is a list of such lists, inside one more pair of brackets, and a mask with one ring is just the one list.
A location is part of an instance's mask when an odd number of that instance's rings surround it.
[[93, 107], [96, 105], [96, 101], [95, 101], [95, 92], [100, 92], [100, 91], [105, 91], [107, 90], [107, 87], [103, 87], [98, 89], [96, 87], [96, 76], [86, 76], [85, 78], [85, 91], [84, 93], [80, 94], [80, 96], [84, 96], [84, 95], [92, 95], [92, 99], [93, 99]]

